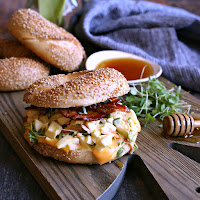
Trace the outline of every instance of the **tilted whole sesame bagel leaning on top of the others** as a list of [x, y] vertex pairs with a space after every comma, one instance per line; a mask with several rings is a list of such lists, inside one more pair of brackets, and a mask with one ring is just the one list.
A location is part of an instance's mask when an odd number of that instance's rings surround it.
[[64, 71], [77, 70], [85, 58], [80, 42], [63, 28], [31, 9], [16, 11], [10, 33], [38, 57]]

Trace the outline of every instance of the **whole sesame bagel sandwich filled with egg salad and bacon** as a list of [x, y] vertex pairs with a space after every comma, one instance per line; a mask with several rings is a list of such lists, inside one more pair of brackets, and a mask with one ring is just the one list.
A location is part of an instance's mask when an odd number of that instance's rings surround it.
[[24, 137], [46, 157], [76, 164], [104, 164], [136, 149], [141, 130], [122, 105], [129, 92], [113, 68], [42, 78], [25, 92]]

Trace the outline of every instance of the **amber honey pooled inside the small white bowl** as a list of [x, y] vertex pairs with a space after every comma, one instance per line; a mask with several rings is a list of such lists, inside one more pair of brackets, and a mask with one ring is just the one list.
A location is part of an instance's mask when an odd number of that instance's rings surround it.
[[[153, 75], [153, 67], [142, 60], [136, 60], [133, 58], [117, 58], [117, 59], [109, 59], [101, 62], [97, 68], [105, 68], [110, 67], [120, 71], [125, 78], [130, 80], [137, 80], [140, 78], [148, 78], [149, 76]], [[142, 74], [143, 68], [144, 72]]]

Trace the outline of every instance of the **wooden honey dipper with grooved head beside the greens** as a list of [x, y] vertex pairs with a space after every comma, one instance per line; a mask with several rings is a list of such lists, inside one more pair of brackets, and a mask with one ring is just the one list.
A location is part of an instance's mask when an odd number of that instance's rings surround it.
[[194, 120], [191, 115], [172, 114], [163, 120], [164, 134], [169, 136], [190, 135], [198, 127], [200, 120]]

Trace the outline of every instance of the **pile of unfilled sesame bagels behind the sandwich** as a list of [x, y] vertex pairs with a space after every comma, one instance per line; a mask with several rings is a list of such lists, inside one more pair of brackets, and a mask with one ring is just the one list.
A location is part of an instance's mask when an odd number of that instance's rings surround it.
[[[49, 75], [46, 63], [71, 72], [85, 59], [80, 42], [70, 33], [43, 18], [36, 11], [16, 11], [8, 25], [21, 42], [0, 40], [0, 91], [24, 90]], [[23, 46], [23, 45], [24, 46]]]

